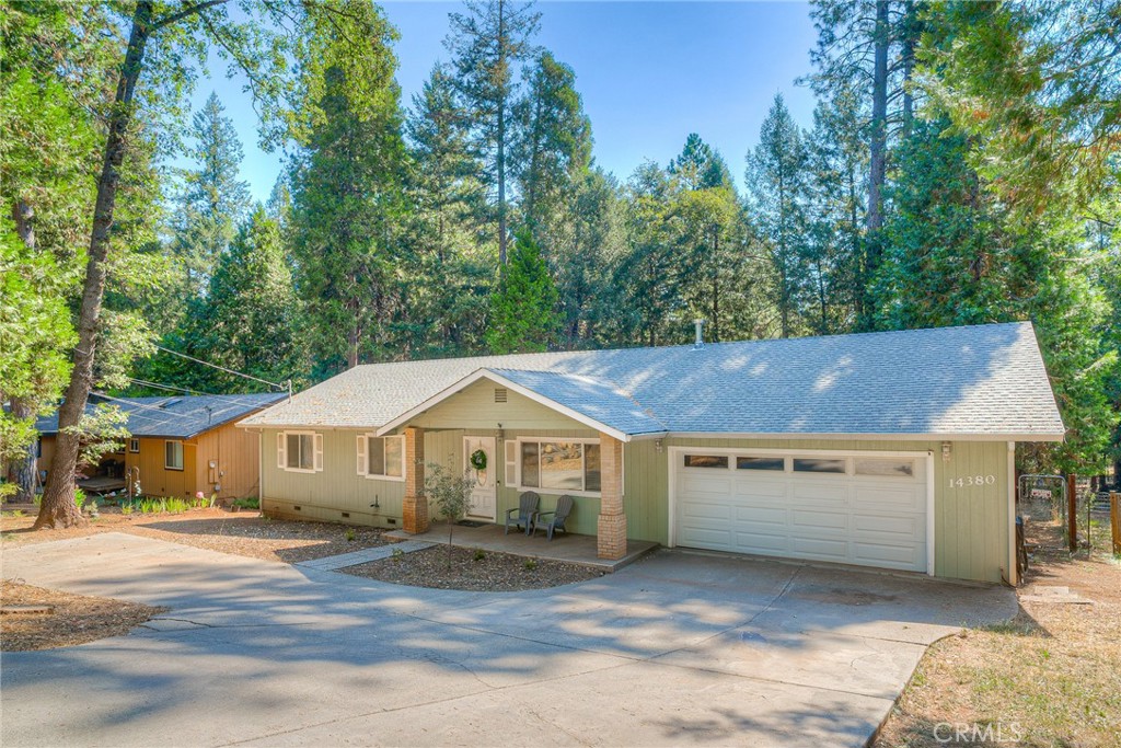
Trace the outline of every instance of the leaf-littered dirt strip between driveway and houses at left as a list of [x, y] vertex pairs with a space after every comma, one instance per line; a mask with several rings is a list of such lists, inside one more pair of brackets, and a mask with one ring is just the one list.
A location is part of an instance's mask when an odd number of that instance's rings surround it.
[[[22, 511], [24, 516], [11, 516]], [[268, 519], [253, 511], [192, 509], [172, 515], [122, 515], [115, 507], [84, 527], [31, 530], [35, 506], [4, 506], [0, 517], [0, 550], [96, 533], [129, 533], [265, 561], [296, 563], [383, 545], [381, 530], [330, 523]]]

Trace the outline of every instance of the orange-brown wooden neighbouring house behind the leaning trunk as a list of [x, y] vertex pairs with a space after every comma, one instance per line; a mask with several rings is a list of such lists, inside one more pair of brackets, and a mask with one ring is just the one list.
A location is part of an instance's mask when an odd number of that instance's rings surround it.
[[[287, 394], [192, 395], [173, 397], [100, 398], [92, 396], [86, 410], [99, 403], [117, 405], [128, 416], [130, 436], [124, 449], [106, 454], [95, 470], [87, 470], [78, 486], [98, 493], [123, 490], [131, 480], [146, 496], [237, 499], [258, 495], [259, 450], [256, 436], [234, 423], [261, 410]], [[50, 470], [58, 416], [40, 418], [39, 470]]]

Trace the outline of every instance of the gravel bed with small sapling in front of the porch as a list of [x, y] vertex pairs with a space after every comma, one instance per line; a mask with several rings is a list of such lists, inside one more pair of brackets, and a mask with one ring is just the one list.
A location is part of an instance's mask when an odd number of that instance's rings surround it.
[[446, 546], [414, 551], [340, 571], [393, 584], [478, 592], [538, 590], [603, 576], [603, 572], [581, 564], [458, 547], [452, 550], [452, 565], [448, 567]]

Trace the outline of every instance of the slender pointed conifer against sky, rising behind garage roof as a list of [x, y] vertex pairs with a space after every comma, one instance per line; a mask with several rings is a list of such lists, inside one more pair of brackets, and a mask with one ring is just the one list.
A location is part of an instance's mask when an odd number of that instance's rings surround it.
[[776, 95], [760, 129], [759, 145], [748, 157], [747, 178], [752, 218], [777, 276], [775, 304], [782, 338], [800, 326], [808, 242], [807, 159], [802, 132], [781, 94]]

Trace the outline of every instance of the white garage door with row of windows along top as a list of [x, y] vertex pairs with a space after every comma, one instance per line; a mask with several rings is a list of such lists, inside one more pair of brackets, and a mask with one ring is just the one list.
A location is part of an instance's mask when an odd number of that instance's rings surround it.
[[676, 545], [927, 570], [925, 455], [696, 450], [670, 459]]

